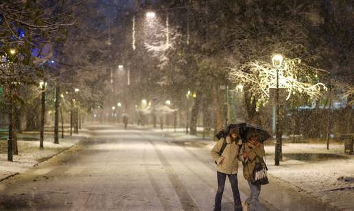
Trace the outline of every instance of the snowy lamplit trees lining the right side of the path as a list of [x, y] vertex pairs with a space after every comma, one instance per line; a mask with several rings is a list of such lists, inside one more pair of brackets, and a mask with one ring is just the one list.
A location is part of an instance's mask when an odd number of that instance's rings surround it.
[[[149, 11], [155, 16], [145, 16]], [[209, 113], [215, 113], [215, 130], [224, 126], [226, 110], [235, 104], [225, 106], [230, 94], [225, 94], [224, 87], [232, 91], [239, 84], [243, 86], [243, 119], [269, 126], [268, 88], [274, 87], [271, 58], [276, 53], [286, 58], [281, 71], [283, 85], [290, 91], [286, 106], [298, 110], [314, 102], [319, 109], [344, 97], [343, 121], [349, 122], [346, 132], [351, 132], [351, 1], [147, 2], [126, 16], [132, 19], [134, 27], [131, 21], [125, 22], [123, 58], [130, 58], [124, 62], [136, 71], [132, 74], [137, 82], [130, 85], [130, 90], [139, 90], [134, 102], [171, 99], [184, 110], [187, 91], [196, 92], [189, 120], [192, 134], [200, 109], [204, 126], [214, 121]], [[228, 113], [233, 120], [232, 112]]]

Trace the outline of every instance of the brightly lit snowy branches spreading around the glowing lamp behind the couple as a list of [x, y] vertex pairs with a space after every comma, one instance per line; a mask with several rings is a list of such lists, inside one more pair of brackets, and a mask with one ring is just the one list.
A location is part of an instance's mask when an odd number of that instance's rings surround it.
[[[248, 91], [263, 102], [270, 98], [270, 88], [276, 87], [276, 68], [271, 63], [254, 60], [237, 67], [228, 67], [228, 78], [235, 84], [242, 83], [249, 87]], [[287, 90], [287, 99], [296, 93], [305, 93], [310, 98], [320, 98], [321, 91], [327, 90], [318, 81], [319, 74], [327, 73], [323, 69], [310, 67], [299, 58], [285, 59], [279, 71], [279, 87]]]

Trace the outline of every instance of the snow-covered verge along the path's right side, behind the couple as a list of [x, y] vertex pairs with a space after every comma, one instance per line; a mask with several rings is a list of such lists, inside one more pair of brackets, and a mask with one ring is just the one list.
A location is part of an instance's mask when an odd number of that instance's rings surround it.
[[[187, 146], [204, 143], [211, 149], [215, 143], [182, 131], [168, 135], [178, 141], [185, 140]], [[325, 143], [284, 143], [281, 166], [274, 166], [272, 141], [268, 141], [265, 149], [269, 173], [276, 181], [340, 210], [354, 210], [354, 155], [344, 154], [343, 144], [331, 142], [327, 151]]]

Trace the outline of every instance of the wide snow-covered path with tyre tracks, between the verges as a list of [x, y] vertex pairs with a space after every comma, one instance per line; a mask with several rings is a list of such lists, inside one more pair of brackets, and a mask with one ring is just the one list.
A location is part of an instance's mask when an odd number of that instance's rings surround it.
[[[217, 182], [209, 149], [150, 130], [102, 125], [91, 131], [78, 150], [0, 184], [0, 210], [213, 210]], [[238, 176], [244, 201], [248, 185]], [[272, 179], [261, 201], [268, 210], [332, 210]], [[233, 210], [227, 180], [222, 206]]]

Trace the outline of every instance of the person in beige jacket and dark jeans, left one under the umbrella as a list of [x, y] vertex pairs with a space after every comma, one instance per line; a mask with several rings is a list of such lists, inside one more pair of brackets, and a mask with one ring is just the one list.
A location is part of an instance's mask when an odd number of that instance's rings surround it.
[[215, 195], [215, 211], [221, 210], [222, 194], [224, 193], [226, 176], [233, 190], [235, 211], [242, 211], [241, 197], [237, 184], [238, 157], [241, 148], [239, 130], [232, 129], [226, 138], [221, 138], [211, 150], [211, 156], [217, 164], [217, 192]]

